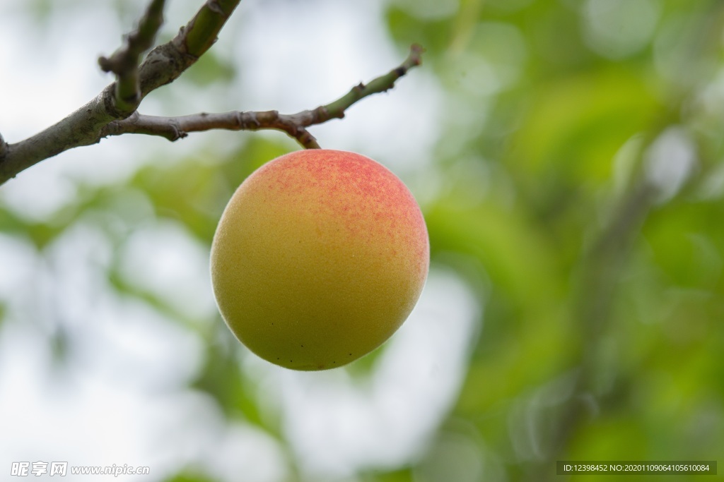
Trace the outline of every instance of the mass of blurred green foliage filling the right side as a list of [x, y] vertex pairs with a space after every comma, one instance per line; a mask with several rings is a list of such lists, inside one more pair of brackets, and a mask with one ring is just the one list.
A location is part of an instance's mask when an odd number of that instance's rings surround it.
[[[715, 460], [724, 449], [723, 203], [705, 186], [720, 166], [722, 124], [692, 106], [719, 85], [724, 5], [630, 2], [655, 15], [647, 19], [617, 12], [633, 8], [619, 1], [490, 1], [469, 22], [425, 20], [398, 3], [388, 21], [400, 46], [424, 43], [450, 95], [481, 112], [467, 139], [442, 136], [458, 141], [441, 146], [447, 172], [472, 158], [493, 173], [483, 188], [446, 178], [450, 194], [426, 212], [434, 254], [465, 254], [492, 283], [450, 418], [469, 421], [485, 441], [480, 457], [494, 455], [512, 480], [554, 478], [550, 460]], [[455, 30], [462, 22], [468, 30]], [[611, 39], [597, 36], [598, 22]], [[615, 35], [627, 22], [656, 27], [627, 55], [607, 56], [607, 42], [623, 48]], [[502, 84], [518, 43], [524, 60]], [[478, 82], [498, 82], [477, 104], [474, 89], [456, 88], [471, 61], [492, 69]], [[695, 161], [662, 199], [652, 165], [685, 161], [677, 145], [660, 158], [651, 146], [672, 126]], [[634, 197], [641, 186], [658, 194]], [[562, 380], [559, 393], [570, 392], [542, 402]], [[531, 426], [537, 435], [525, 433]], [[539, 446], [516, 442], [528, 437]]]

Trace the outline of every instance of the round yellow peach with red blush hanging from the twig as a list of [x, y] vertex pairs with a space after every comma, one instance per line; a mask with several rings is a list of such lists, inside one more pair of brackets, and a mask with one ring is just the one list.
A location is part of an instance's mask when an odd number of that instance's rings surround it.
[[337, 150], [258, 168], [211, 248], [214, 295], [232, 332], [295, 370], [332, 369], [382, 345], [415, 306], [428, 268], [411, 192], [383, 165]]

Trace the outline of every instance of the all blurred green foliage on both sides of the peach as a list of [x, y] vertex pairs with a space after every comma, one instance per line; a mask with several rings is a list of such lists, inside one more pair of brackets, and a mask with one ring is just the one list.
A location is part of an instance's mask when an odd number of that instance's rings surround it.
[[[715, 460], [724, 450], [724, 2], [389, 0], [384, 20], [400, 53], [425, 46], [424, 69], [444, 91], [441, 187], [425, 212], [432, 258], [477, 290], [485, 325], [427, 453], [358, 480], [542, 481], [556, 478], [555, 460]], [[189, 77], [198, 86], [237, 69], [201, 62]], [[667, 132], [678, 134], [655, 150]], [[275, 139], [247, 137], [214, 163], [192, 153], [117, 186], [80, 186], [54, 223], [3, 210], [0, 231], [43, 251], [95, 215], [120, 246], [127, 232], [108, 213], [142, 193], [154, 220], [208, 245], [235, 187], [288, 150]], [[130, 229], [146, 222], [115, 215]], [[117, 273], [109, 279], [198, 326]], [[284, 442], [227, 335], [203, 332], [193, 388]]]

